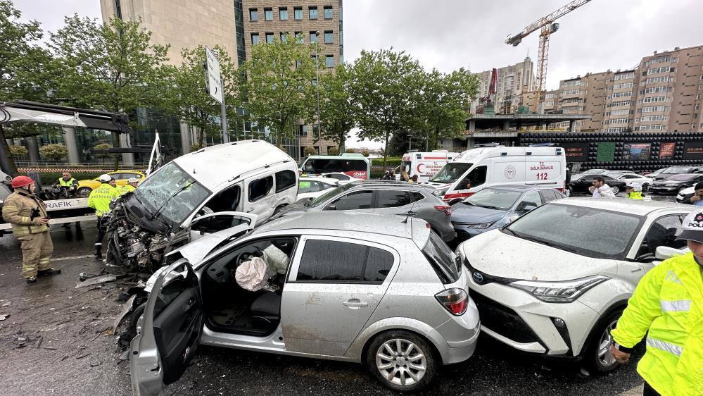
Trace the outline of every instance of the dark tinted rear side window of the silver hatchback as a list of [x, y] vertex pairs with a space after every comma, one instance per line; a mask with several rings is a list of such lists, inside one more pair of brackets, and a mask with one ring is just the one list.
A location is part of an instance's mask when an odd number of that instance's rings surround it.
[[393, 254], [383, 249], [330, 240], [308, 240], [296, 282], [383, 283]]

